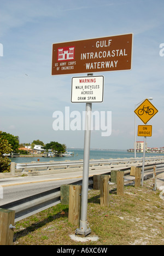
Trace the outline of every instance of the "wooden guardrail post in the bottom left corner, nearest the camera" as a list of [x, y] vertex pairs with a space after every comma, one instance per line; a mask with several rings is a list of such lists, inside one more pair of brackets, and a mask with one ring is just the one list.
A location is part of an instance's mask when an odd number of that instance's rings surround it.
[[13, 245], [15, 211], [0, 208], [0, 245]]

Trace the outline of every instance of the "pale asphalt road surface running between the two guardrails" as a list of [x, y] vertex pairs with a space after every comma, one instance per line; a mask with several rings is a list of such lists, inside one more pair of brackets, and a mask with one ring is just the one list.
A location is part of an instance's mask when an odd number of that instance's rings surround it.
[[[161, 168], [163, 171], [163, 167]], [[91, 170], [90, 176], [93, 174], [103, 174], [109, 172], [109, 168], [103, 170]], [[145, 172], [146, 174], [146, 172]], [[6, 203], [23, 199], [28, 196], [42, 193], [60, 187], [62, 184], [71, 184], [83, 179], [83, 172], [65, 172], [57, 174], [49, 174], [44, 176], [33, 177], [11, 177], [0, 179], [0, 207]], [[159, 186], [164, 185], [164, 172], [157, 179]]]

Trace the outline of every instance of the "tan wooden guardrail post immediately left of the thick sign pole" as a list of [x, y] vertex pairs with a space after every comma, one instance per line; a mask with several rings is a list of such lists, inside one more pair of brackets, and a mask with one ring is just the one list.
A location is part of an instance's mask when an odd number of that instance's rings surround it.
[[69, 186], [68, 222], [75, 226], [79, 226], [80, 222], [81, 187], [80, 185]]

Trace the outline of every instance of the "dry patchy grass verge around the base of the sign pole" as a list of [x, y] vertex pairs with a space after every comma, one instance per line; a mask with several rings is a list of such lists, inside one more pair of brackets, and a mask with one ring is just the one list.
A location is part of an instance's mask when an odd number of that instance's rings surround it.
[[[87, 220], [96, 242], [71, 240], [76, 227], [68, 223], [68, 206], [58, 204], [15, 224], [14, 245], [163, 245], [164, 204], [159, 191], [125, 186], [125, 195], [110, 193], [109, 207], [100, 206], [100, 191], [90, 190]], [[111, 191], [115, 191], [112, 185]]]

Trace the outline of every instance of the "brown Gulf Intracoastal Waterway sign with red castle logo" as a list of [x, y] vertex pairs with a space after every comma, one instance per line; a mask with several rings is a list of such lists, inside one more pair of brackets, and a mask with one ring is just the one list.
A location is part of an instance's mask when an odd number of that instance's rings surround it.
[[122, 71], [132, 68], [133, 34], [52, 45], [52, 75]]

